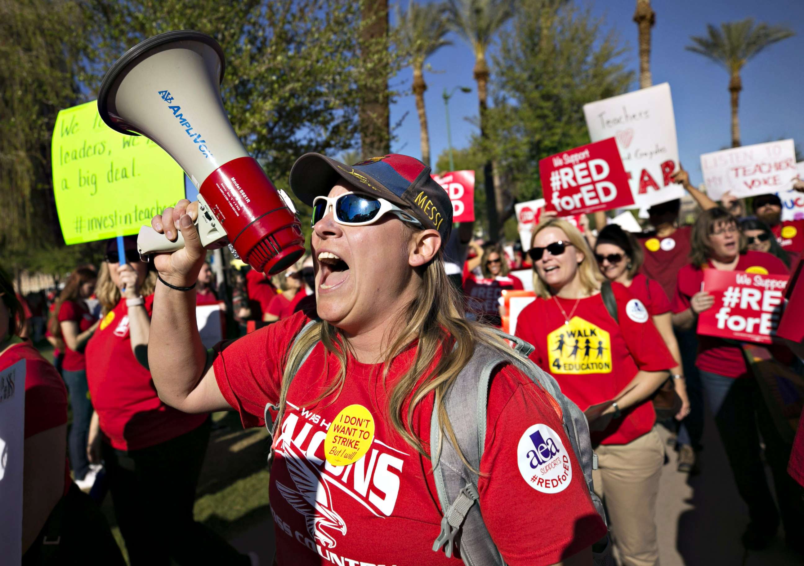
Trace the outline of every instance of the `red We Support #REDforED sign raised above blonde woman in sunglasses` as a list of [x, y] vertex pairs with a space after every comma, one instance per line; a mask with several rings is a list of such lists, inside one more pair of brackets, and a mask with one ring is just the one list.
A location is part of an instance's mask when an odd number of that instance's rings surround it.
[[559, 216], [629, 207], [634, 196], [613, 137], [539, 161], [545, 208]]

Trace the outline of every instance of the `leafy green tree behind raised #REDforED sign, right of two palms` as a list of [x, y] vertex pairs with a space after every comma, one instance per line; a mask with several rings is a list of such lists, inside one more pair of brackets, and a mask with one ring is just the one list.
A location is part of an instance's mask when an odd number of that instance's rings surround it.
[[[493, 57], [494, 107], [483, 146], [524, 201], [541, 196], [539, 159], [589, 143], [583, 105], [626, 92], [634, 73], [622, 61], [621, 40], [589, 8], [556, 0], [519, 6]], [[513, 203], [505, 204], [510, 215]]]

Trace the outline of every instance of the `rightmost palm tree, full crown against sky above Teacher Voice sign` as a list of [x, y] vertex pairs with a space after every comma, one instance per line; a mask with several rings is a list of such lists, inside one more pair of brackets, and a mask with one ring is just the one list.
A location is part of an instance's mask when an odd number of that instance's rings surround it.
[[692, 36], [692, 45], [688, 51], [704, 55], [716, 63], [723, 65], [731, 78], [728, 81], [728, 92], [732, 94], [732, 147], [740, 146], [740, 121], [737, 118], [737, 106], [740, 102], [740, 91], [743, 81], [740, 71], [749, 59], [772, 43], [787, 39], [793, 31], [783, 26], [769, 26], [766, 23], [755, 24], [753, 18], [740, 22], [720, 24], [720, 29], [708, 24], [708, 35]]

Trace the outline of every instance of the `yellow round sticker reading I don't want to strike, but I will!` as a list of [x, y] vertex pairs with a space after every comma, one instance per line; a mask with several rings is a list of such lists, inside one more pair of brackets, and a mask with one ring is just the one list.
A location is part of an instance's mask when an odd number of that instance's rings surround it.
[[365, 456], [374, 441], [374, 417], [363, 405], [338, 412], [324, 439], [324, 457], [332, 466], [354, 464]]

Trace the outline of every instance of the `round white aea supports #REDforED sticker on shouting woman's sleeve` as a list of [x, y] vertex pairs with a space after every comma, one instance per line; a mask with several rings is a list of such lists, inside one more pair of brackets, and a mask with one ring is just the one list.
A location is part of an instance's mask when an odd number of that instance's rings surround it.
[[572, 461], [564, 443], [547, 424], [531, 424], [516, 447], [519, 473], [528, 486], [557, 494], [572, 482]]

